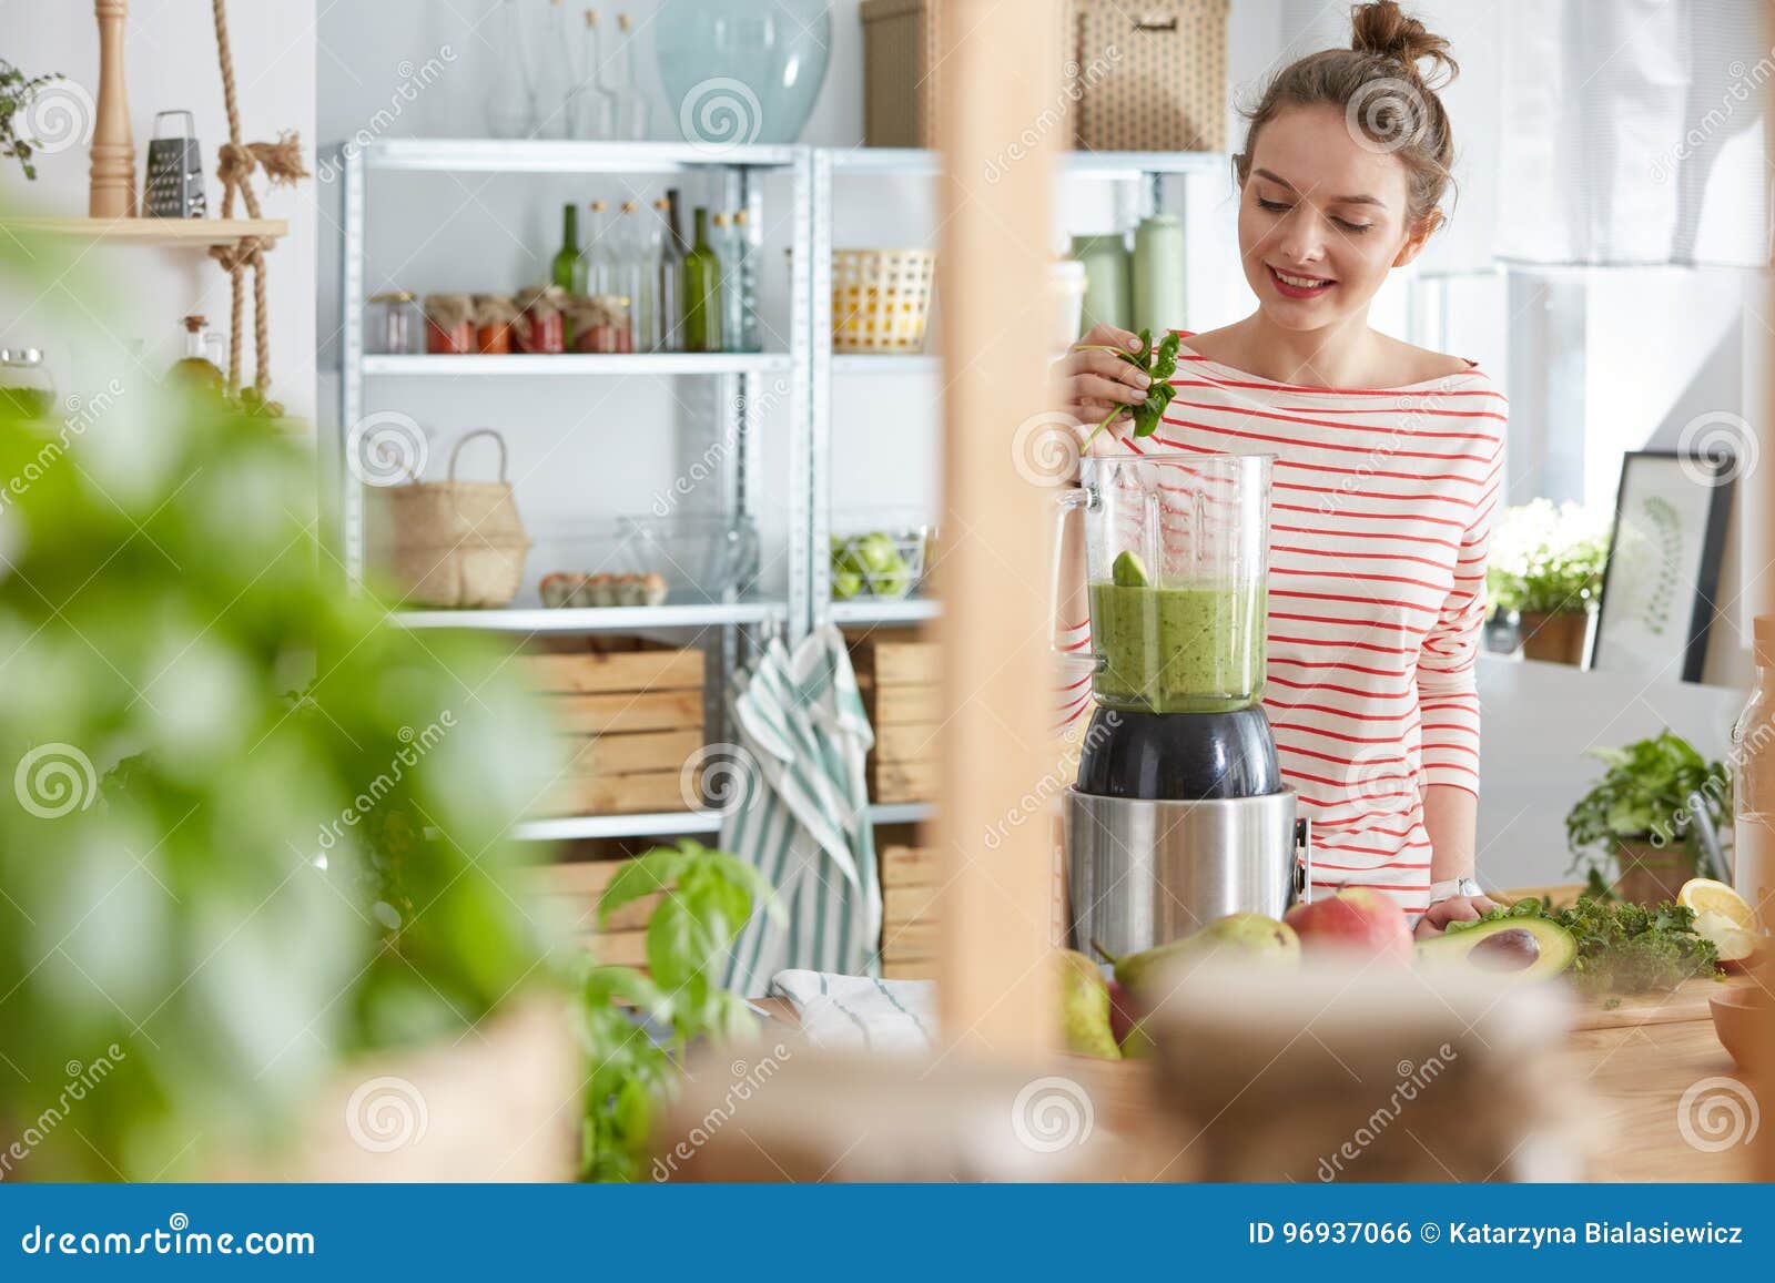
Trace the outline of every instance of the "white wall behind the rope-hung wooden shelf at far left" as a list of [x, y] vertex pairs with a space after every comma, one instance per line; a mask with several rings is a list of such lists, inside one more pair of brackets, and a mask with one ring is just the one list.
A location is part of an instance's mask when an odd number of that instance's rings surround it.
[[[282, 130], [302, 135], [314, 156], [314, 0], [243, 4], [229, 12], [229, 34], [247, 142]], [[211, 213], [220, 209], [215, 151], [227, 138], [215, 27], [206, 4], [131, 5], [124, 75], [137, 149], [137, 190], [147, 163], [154, 112], [188, 108], [204, 147]], [[60, 71], [87, 94], [98, 89], [98, 25], [91, 4], [76, 0], [0, 0], [0, 48], [27, 73]], [[87, 130], [91, 135], [91, 126]], [[0, 209], [55, 216], [87, 213], [85, 142], [43, 154], [37, 181], [27, 183], [12, 161], [0, 169]], [[314, 243], [312, 185], [264, 192], [268, 218], [288, 218], [289, 236], [270, 254], [273, 396], [298, 417], [314, 415]], [[243, 213], [243, 211], [240, 211]], [[227, 334], [229, 284], [197, 250], [96, 247], [82, 268], [105, 289], [105, 302], [75, 303], [66, 289], [0, 295], [0, 344], [46, 351], [64, 394], [103, 385], [114, 371], [135, 367], [160, 376], [183, 355], [179, 318], [202, 312]], [[250, 293], [248, 293], [250, 298]], [[243, 373], [250, 378], [248, 357]]]

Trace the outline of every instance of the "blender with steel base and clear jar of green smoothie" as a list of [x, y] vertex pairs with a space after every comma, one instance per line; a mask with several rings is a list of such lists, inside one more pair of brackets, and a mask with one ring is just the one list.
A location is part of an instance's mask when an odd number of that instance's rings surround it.
[[1060, 497], [1061, 534], [1072, 513], [1085, 525], [1097, 704], [1067, 791], [1076, 948], [1138, 953], [1227, 914], [1282, 917], [1312, 882], [1262, 708], [1273, 463], [1104, 454]]

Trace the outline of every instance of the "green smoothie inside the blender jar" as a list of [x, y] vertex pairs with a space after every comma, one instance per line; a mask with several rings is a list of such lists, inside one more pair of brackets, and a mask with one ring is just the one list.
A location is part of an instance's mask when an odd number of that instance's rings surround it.
[[1225, 713], [1264, 690], [1269, 600], [1242, 587], [1092, 584], [1097, 703], [1143, 713]]

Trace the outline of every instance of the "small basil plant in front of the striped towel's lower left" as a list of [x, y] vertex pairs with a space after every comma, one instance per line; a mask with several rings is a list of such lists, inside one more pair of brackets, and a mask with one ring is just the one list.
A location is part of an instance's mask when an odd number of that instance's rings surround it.
[[[714, 974], [754, 905], [785, 919], [756, 868], [696, 841], [628, 861], [598, 900], [600, 925], [651, 894], [660, 901], [648, 917], [646, 974], [593, 962], [580, 981], [579, 1038], [591, 1061], [580, 1136], [586, 1180], [635, 1178], [692, 1042], [730, 1042], [754, 1029], [746, 999], [721, 988]], [[637, 1017], [669, 1031], [669, 1045], [655, 1042]]]

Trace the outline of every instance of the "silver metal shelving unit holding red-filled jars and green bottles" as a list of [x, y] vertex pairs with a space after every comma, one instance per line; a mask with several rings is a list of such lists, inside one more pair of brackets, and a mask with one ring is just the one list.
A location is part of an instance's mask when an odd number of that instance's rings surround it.
[[[786, 405], [790, 424], [790, 543], [786, 591], [777, 600], [669, 602], [635, 609], [524, 607], [506, 610], [403, 610], [396, 619], [408, 628], [472, 628], [504, 635], [561, 634], [657, 634], [666, 630], [715, 630], [710, 646], [712, 710], [724, 710], [728, 687], [742, 658], [742, 637], [788, 634], [808, 628], [808, 495], [811, 456], [804, 424], [809, 417], [809, 321], [811, 296], [811, 158], [806, 147], [715, 147], [696, 144], [556, 142], [556, 140], [435, 140], [387, 138], [362, 147], [343, 147], [337, 156], [343, 177], [341, 254], [341, 390], [339, 429], [330, 442], [332, 477], [337, 481], [337, 545], [350, 584], [364, 575], [364, 486], [346, 467], [346, 440], [366, 413], [367, 380], [605, 380], [605, 378], [699, 378], [710, 380], [708, 399], [722, 440], [737, 440], [733, 465], [722, 477], [724, 506], [751, 513], [758, 506], [760, 433], [763, 406]], [[364, 351], [362, 303], [366, 289], [366, 224], [373, 188], [390, 174], [570, 174], [570, 176], [673, 176], [710, 174], [721, 185], [726, 208], [753, 211], [761, 218], [763, 174], [790, 181], [792, 272], [788, 351], [765, 353], [623, 353], [623, 355], [373, 355]], [[760, 264], [761, 268], [763, 264]], [[522, 445], [518, 445], [522, 449]], [[722, 724], [708, 724], [712, 740], [730, 738]], [[577, 838], [653, 838], [715, 832], [715, 811], [667, 811], [648, 815], [593, 815], [531, 820], [517, 834], [536, 841]]]

